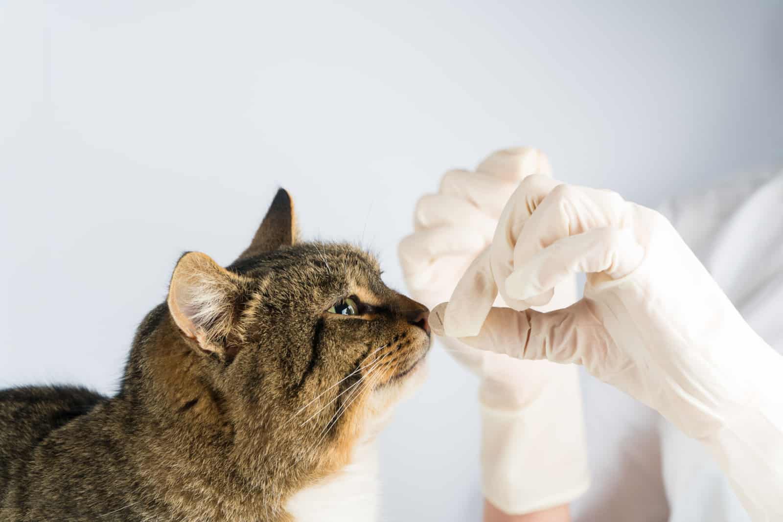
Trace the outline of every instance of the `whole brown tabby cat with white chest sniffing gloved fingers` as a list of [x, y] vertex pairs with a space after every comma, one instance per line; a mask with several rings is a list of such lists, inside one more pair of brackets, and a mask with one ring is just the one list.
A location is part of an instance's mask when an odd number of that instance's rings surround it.
[[428, 310], [280, 190], [227, 268], [184, 254], [121, 387], [0, 391], [0, 519], [373, 520], [373, 440], [424, 376]]

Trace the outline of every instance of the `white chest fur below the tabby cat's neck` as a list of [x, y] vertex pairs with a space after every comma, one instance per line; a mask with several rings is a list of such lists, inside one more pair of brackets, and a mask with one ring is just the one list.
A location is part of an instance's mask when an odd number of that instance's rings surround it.
[[373, 522], [379, 504], [378, 455], [374, 442], [354, 449], [348, 466], [287, 502], [296, 522]]

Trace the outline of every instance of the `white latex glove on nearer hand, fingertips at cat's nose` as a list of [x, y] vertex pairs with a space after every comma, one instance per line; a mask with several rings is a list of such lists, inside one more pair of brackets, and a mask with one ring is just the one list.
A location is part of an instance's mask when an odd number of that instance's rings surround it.
[[[582, 301], [526, 309], [577, 272], [587, 273]], [[513, 308], [491, 308], [498, 287]], [[431, 314], [435, 333], [444, 322], [472, 346], [584, 365], [701, 441], [753, 520], [783, 520], [783, 358], [661, 214], [609, 191], [526, 178], [492, 249]]]

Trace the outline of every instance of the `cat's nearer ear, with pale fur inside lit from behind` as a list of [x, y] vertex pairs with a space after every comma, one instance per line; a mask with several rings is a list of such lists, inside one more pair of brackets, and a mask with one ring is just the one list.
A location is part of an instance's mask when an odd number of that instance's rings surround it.
[[168, 287], [168, 310], [186, 337], [204, 351], [221, 351], [236, 317], [242, 277], [207, 254], [188, 252], [179, 258]]

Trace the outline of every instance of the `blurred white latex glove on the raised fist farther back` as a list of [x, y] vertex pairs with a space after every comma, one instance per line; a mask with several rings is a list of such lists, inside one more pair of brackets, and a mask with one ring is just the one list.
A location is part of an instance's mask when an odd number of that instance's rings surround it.
[[[429, 307], [446, 301], [491, 243], [503, 204], [519, 182], [549, 172], [543, 153], [529, 148], [496, 152], [474, 172], [447, 172], [438, 193], [419, 200], [416, 232], [399, 245], [412, 297]], [[547, 309], [574, 301], [576, 280], [568, 279]], [[576, 367], [510, 361], [443, 340], [449, 353], [481, 378], [486, 499], [506, 513], [530, 513], [581, 495], [589, 474]]]

